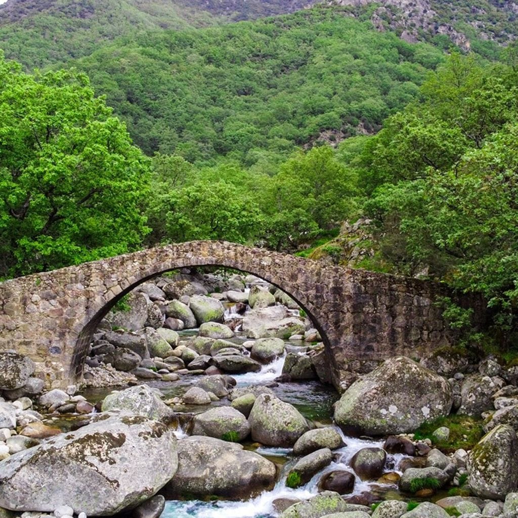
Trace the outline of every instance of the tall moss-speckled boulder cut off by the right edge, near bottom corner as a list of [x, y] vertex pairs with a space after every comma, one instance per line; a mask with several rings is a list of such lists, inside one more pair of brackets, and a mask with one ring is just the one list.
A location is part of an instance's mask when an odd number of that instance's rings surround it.
[[481, 498], [502, 500], [518, 483], [518, 438], [509, 425], [484, 435], [469, 455], [468, 483]]

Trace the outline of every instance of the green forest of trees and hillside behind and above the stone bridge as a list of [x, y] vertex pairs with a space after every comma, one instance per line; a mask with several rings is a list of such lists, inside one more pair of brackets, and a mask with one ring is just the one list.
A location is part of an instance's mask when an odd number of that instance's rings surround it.
[[[46, 71], [2, 57], [0, 277], [191, 239], [324, 242], [328, 261], [481, 292], [510, 343], [516, 46], [444, 52], [350, 6], [204, 28], [186, 12], [102, 45], [90, 24], [74, 60], [42, 40]], [[336, 236], [358, 218], [369, 253], [351, 261]]]

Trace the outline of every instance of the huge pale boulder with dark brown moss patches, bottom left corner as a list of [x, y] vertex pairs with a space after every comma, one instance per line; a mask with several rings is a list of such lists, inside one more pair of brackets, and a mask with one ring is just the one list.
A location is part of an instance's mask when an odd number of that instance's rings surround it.
[[147, 500], [178, 468], [176, 437], [142, 416], [99, 416], [95, 423], [11, 455], [0, 470], [0, 507], [110, 516]]

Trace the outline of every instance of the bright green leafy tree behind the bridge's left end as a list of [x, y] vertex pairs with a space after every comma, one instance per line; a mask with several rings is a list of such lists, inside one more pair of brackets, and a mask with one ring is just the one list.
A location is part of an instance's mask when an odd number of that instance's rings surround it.
[[0, 55], [0, 112], [0, 278], [140, 244], [148, 161], [86, 76]]

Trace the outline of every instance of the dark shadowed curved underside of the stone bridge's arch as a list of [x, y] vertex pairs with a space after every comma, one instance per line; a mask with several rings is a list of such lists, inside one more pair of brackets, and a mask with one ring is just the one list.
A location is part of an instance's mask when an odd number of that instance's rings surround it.
[[[180, 264], [181, 263], [181, 264]], [[124, 290], [122, 290], [119, 294], [113, 296], [110, 300], [103, 303], [97, 303], [97, 306], [100, 306], [94, 313], [94, 315], [85, 323], [81, 324], [81, 329], [78, 333], [78, 338], [76, 340], [76, 344], [74, 347], [74, 353], [73, 353], [73, 359], [72, 363], [70, 365], [70, 377], [73, 380], [79, 380], [82, 378], [83, 375], [83, 369], [84, 369], [84, 363], [88, 355], [88, 350], [90, 343], [93, 339], [93, 335], [95, 333], [95, 330], [97, 329], [99, 323], [105, 318], [105, 316], [108, 314], [110, 309], [113, 308], [114, 305], [117, 304], [117, 302], [127, 295], [128, 293], [135, 290], [139, 285], [150, 281], [156, 277], [159, 277], [168, 271], [177, 270], [181, 268], [196, 268], [196, 267], [220, 267], [220, 268], [228, 268], [233, 269], [236, 271], [240, 271], [244, 274], [251, 274], [254, 275], [260, 279], [263, 279], [264, 281], [268, 282], [269, 284], [277, 287], [287, 295], [289, 295], [295, 302], [306, 312], [309, 320], [311, 321], [312, 325], [318, 330], [322, 341], [324, 343], [324, 347], [326, 350], [328, 350], [330, 342], [327, 337], [327, 333], [325, 331], [325, 327], [321, 324], [319, 321], [320, 318], [318, 316], [315, 316], [315, 309], [312, 308], [313, 304], [311, 301], [308, 300], [301, 300], [303, 297], [300, 296], [300, 294], [297, 293], [296, 290], [290, 290], [285, 287], [285, 285], [281, 282], [279, 282], [278, 279], [272, 278], [272, 276], [265, 274], [264, 271], [254, 271], [254, 268], [247, 268], [243, 269], [236, 267], [234, 264], [231, 264], [231, 262], [226, 261], [204, 261], [204, 260], [193, 260], [193, 261], [185, 261], [182, 260], [179, 262], [178, 265], [167, 265], [167, 267], [159, 268], [159, 271], [153, 271], [152, 273], [146, 273], [143, 274], [138, 281], [133, 282], [132, 284], [129, 284]], [[155, 270], [155, 268], [153, 268]]]

